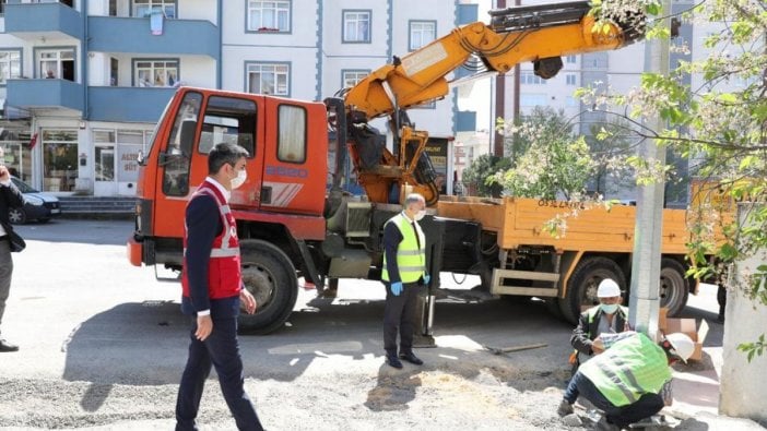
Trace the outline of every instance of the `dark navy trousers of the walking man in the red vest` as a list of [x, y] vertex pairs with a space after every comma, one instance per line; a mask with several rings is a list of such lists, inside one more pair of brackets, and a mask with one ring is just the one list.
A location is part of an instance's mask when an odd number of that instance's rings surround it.
[[205, 380], [215, 367], [219, 383], [229, 411], [240, 430], [263, 430], [248, 394], [245, 393], [243, 360], [237, 344], [237, 318], [214, 319], [213, 332], [204, 340], [194, 337], [197, 318], [192, 318], [189, 359], [181, 376], [176, 402], [176, 430], [197, 430], [194, 419]]

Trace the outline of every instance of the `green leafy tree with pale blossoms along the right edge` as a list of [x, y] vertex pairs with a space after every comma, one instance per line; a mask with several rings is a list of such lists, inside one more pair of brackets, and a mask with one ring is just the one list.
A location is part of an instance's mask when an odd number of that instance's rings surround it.
[[[595, 1], [599, 16], [620, 16], [632, 2]], [[660, 2], [642, 0], [647, 11], [662, 15]], [[759, 0], [707, 0], [696, 3], [677, 16], [695, 20], [706, 31], [704, 49], [707, 56], [698, 61], [681, 61], [670, 75], [645, 73], [641, 86], [626, 95], [611, 95], [593, 88], [582, 92], [594, 106], [626, 106], [625, 119], [636, 125], [642, 139], [656, 140], [693, 160], [691, 170], [703, 183], [717, 188], [734, 200], [767, 200], [767, 3]], [[660, 20], [659, 20], [660, 22]], [[664, 28], [650, 28], [648, 37], [668, 37]], [[684, 47], [675, 47], [684, 49]], [[682, 76], [699, 77], [695, 86], [682, 84]], [[666, 122], [662, 130], [644, 128], [648, 116], [660, 115]], [[698, 277], [716, 276], [727, 264], [755, 250], [767, 249], [767, 207], [758, 206], [747, 215], [748, 228], [698, 207], [696, 238], [691, 243], [693, 264]], [[711, 238], [712, 223], [724, 224], [727, 241]], [[710, 264], [708, 255], [720, 265]], [[754, 300], [767, 304], [767, 265], [763, 265], [743, 286]], [[767, 345], [764, 337], [741, 346], [760, 354]]]

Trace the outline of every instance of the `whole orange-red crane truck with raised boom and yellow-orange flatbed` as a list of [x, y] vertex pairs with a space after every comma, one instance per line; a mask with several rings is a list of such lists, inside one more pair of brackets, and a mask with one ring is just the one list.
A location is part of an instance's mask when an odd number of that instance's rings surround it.
[[[446, 76], [470, 57], [497, 73], [532, 61], [547, 79], [562, 68], [562, 56], [617, 49], [642, 37], [639, 12], [629, 14], [632, 23], [598, 26], [589, 11], [586, 1], [493, 11], [491, 24], [456, 28], [321, 103], [180, 87], [140, 160], [130, 262], [180, 270], [187, 201], [206, 175], [209, 151], [232, 142], [250, 154], [248, 179], [233, 191], [229, 206], [244, 282], [259, 303], [255, 315], [240, 318], [243, 330], [282, 326], [299, 277], [319, 290], [337, 287], [340, 278], [378, 279], [382, 226], [401, 211], [406, 190], [422, 193], [432, 207], [422, 224], [434, 239], [427, 250], [432, 289], [439, 288], [440, 271], [477, 274], [483, 289], [545, 298], [553, 311], [575, 321], [594, 301], [602, 278], [626, 286], [634, 208], [586, 211], [556, 239], [543, 225], [564, 203], [440, 201], [424, 152], [428, 133], [412, 127], [406, 109], [445, 97]], [[378, 117], [391, 122], [392, 148], [368, 123]], [[340, 188], [347, 156], [363, 199]], [[662, 306], [671, 314], [691, 289], [683, 263], [686, 231], [684, 213], [666, 211], [661, 284]]]

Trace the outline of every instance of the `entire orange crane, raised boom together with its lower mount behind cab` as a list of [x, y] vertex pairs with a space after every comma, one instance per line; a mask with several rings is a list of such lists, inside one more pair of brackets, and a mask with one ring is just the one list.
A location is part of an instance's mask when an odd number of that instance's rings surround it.
[[[425, 131], [412, 130], [404, 110], [445, 97], [446, 76], [474, 56], [488, 71], [506, 73], [532, 61], [535, 74], [550, 79], [562, 69], [562, 56], [617, 49], [644, 36], [637, 12], [630, 23], [595, 27], [588, 1], [492, 11], [491, 24], [475, 22], [400, 58], [394, 57], [345, 93], [343, 106], [349, 147], [357, 179], [373, 202], [390, 202], [392, 189], [405, 183], [432, 205], [438, 200], [435, 173], [423, 148]], [[340, 113], [340, 112], [339, 112]], [[394, 152], [382, 144], [367, 121], [389, 116], [397, 130]], [[341, 152], [340, 152], [341, 153]]]

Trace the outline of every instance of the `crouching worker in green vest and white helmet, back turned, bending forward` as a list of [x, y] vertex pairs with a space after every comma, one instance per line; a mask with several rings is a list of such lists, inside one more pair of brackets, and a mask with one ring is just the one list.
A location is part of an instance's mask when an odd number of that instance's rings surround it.
[[598, 430], [621, 430], [648, 418], [663, 408], [661, 390], [671, 380], [670, 364], [687, 362], [695, 343], [685, 334], [669, 334], [659, 343], [645, 334], [617, 334], [605, 351], [583, 363], [565, 391], [557, 414], [573, 412], [573, 404], [582, 396], [604, 416]]

